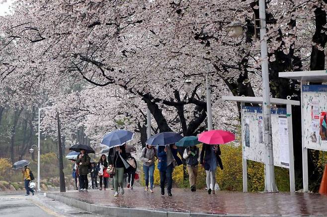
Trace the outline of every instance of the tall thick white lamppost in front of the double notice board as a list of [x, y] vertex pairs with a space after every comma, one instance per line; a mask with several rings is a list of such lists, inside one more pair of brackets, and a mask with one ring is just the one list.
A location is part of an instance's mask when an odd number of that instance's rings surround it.
[[261, 44], [261, 70], [262, 70], [262, 116], [263, 116], [263, 144], [266, 147], [266, 180], [267, 192], [278, 191], [275, 184], [274, 157], [272, 151], [271, 111], [270, 111], [270, 88], [268, 71], [268, 51], [266, 37], [266, 9], [265, 0], [259, 0], [260, 17], [260, 44]]

